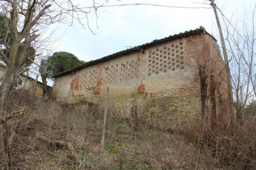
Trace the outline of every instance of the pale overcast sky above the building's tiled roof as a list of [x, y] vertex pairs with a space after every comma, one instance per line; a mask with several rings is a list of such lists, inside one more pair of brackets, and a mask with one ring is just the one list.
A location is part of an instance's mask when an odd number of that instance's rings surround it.
[[[95, 2], [104, 3], [105, 6], [147, 3], [189, 8], [149, 5], [101, 7], [97, 10], [98, 19], [91, 10], [88, 13], [89, 26], [94, 34], [76, 21], [72, 26], [66, 23], [52, 25], [49, 28], [49, 32], [55, 31], [53, 38], [56, 42], [52, 46], [53, 52], [66, 51], [80, 60], [91, 61], [155, 39], [195, 30], [200, 26], [219, 40], [214, 11], [209, 5], [210, 2], [206, 0], [110, 0], [108, 2], [95, 0]], [[72, 0], [72, 3], [79, 7], [91, 7], [93, 1]], [[241, 19], [251, 10], [255, 1], [216, 0], [215, 3], [227, 18]], [[220, 41], [218, 43], [220, 44]]]

